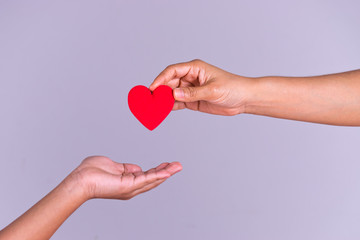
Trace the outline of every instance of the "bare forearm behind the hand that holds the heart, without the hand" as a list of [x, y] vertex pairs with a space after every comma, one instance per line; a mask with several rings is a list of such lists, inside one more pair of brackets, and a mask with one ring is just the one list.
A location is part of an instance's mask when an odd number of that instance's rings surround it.
[[254, 79], [246, 113], [360, 126], [360, 70], [317, 77]]

